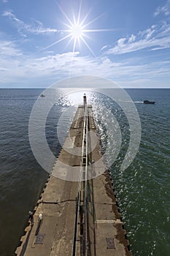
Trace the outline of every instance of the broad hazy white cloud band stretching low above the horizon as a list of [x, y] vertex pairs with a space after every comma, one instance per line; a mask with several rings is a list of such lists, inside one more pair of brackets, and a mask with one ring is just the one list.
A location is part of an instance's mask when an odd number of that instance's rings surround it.
[[[170, 61], [157, 61], [141, 64], [137, 59], [113, 61], [107, 56], [95, 59], [93, 56], [80, 56], [80, 53], [49, 53], [47, 56], [23, 54], [17, 42], [0, 41], [0, 82], [30, 83], [35, 80], [42, 86], [69, 75], [98, 75], [118, 83], [127, 80], [147, 83], [148, 79], [169, 77]], [[47, 82], [48, 81], [48, 82]], [[137, 82], [136, 82], [137, 83]]]

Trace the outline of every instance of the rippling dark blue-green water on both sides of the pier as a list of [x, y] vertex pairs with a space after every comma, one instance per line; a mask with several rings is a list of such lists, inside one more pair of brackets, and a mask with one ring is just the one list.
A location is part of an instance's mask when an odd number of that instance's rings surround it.
[[[104, 123], [107, 106], [120, 124], [123, 143], [117, 160], [110, 168], [115, 194], [134, 256], [169, 256], [170, 252], [170, 89], [127, 89], [135, 102], [142, 125], [142, 139], [134, 162], [125, 171], [121, 162], [128, 147], [128, 121], [120, 107], [98, 93], [89, 94], [98, 121], [101, 147], [109, 143]], [[15, 255], [28, 211], [36, 206], [48, 173], [36, 162], [28, 138], [31, 109], [42, 89], [0, 89], [0, 255]], [[114, 90], [107, 89], [111, 95]], [[144, 105], [144, 99], [155, 105]], [[56, 102], [58, 103], [58, 102]], [[67, 104], [66, 104], [67, 103]], [[56, 128], [69, 105], [68, 99], [53, 106], [47, 117], [47, 142], [55, 156], [61, 145]], [[131, 104], [131, 103], [129, 103]], [[72, 121], [66, 116], [63, 136]]]

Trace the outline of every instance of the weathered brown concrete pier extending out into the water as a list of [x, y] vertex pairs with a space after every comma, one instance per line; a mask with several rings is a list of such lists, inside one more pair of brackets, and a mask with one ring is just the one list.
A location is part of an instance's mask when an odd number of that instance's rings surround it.
[[[93, 148], [94, 133], [92, 107], [79, 106], [35, 208], [34, 225], [26, 227], [16, 255], [132, 255], [109, 171], [103, 161], [98, 161], [101, 154], [97, 137]], [[81, 154], [77, 154], [77, 148]], [[80, 179], [76, 181], [77, 170]]]

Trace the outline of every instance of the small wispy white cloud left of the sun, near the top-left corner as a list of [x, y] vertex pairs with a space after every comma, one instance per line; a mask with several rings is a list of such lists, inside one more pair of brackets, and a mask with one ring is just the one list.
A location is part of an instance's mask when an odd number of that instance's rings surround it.
[[4, 11], [2, 16], [8, 17], [10, 20], [15, 22], [15, 25], [18, 26], [18, 31], [23, 31], [23, 34], [32, 33], [32, 34], [50, 34], [59, 32], [58, 29], [51, 29], [43, 26], [42, 22], [39, 20], [32, 19], [31, 23], [24, 23], [23, 20], [20, 20], [12, 10]]

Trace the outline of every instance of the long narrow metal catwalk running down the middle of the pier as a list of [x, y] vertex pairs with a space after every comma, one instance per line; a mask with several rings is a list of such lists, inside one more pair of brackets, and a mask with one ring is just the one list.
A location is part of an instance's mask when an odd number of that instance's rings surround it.
[[[80, 225], [80, 255], [88, 255], [88, 106], [84, 106], [84, 123], [82, 131], [82, 157], [80, 162], [80, 178], [77, 186], [76, 212], [72, 256], [77, 253], [78, 230]], [[80, 221], [80, 222], [79, 222]]]

